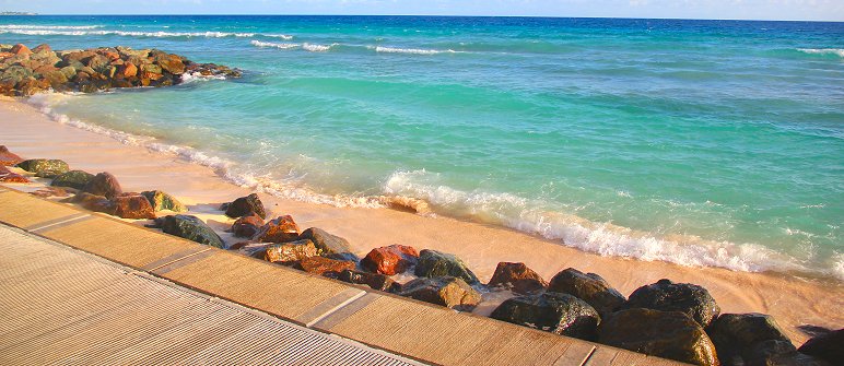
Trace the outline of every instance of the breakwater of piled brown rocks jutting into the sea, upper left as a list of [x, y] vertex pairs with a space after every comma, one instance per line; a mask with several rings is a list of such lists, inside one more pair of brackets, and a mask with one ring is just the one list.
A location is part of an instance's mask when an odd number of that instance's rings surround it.
[[197, 63], [157, 49], [104, 47], [54, 51], [48, 45], [0, 45], [0, 94], [93, 93], [117, 87], [169, 86], [185, 75], [239, 78], [241, 71]]

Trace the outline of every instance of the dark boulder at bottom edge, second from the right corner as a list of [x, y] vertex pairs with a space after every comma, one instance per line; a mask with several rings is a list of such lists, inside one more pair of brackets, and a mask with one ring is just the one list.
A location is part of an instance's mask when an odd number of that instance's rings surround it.
[[771, 358], [776, 355], [775, 352], [796, 350], [774, 318], [764, 314], [723, 314], [706, 332], [726, 365], [737, 361]]

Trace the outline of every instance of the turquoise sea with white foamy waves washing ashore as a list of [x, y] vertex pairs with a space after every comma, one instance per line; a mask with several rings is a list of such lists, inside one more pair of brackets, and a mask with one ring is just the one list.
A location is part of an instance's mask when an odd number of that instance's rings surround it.
[[245, 70], [32, 103], [279, 196], [415, 198], [603, 255], [844, 279], [844, 23], [0, 19], [17, 42]]

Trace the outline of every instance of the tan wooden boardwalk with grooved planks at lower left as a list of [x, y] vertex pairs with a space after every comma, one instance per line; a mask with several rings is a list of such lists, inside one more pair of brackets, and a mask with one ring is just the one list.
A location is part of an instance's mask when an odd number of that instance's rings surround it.
[[0, 222], [16, 227], [0, 226], [3, 365], [679, 365], [310, 275], [1, 186]]

